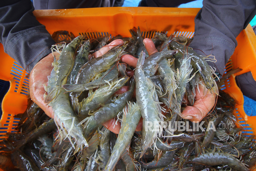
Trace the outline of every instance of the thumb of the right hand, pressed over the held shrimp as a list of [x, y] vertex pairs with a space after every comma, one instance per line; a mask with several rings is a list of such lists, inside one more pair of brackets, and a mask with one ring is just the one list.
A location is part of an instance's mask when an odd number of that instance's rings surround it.
[[193, 106], [186, 106], [182, 112], [184, 119], [189, 119], [193, 122], [200, 122], [215, 104], [216, 94], [199, 85], [199, 91], [196, 89], [196, 98]]

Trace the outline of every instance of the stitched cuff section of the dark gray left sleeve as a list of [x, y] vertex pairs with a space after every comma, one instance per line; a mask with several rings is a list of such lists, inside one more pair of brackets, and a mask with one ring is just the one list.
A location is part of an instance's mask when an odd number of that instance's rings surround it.
[[51, 53], [51, 46], [54, 44], [55, 41], [45, 26], [37, 26], [15, 35], [4, 49], [23, 69], [31, 72], [37, 62]]

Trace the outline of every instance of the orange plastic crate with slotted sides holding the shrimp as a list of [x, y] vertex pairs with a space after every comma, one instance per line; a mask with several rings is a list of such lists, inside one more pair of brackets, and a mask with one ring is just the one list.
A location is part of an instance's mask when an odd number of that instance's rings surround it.
[[[121, 34], [130, 37], [129, 29], [140, 27], [145, 38], [152, 38], [155, 32], [165, 31], [168, 35], [194, 34], [194, 18], [199, 8], [150, 8], [150, 7], [111, 7], [66, 10], [37, 10], [34, 15], [52, 34], [58, 30], [67, 30], [75, 36], [86, 34], [90, 38], [109, 33], [110, 36]], [[249, 25], [237, 37], [238, 45], [227, 64], [226, 71], [241, 68], [241, 72], [233, 74], [222, 87], [238, 105], [234, 112], [238, 122], [246, 129], [248, 135], [255, 134], [256, 116], [247, 116], [243, 109], [244, 98], [237, 87], [235, 76], [251, 71], [256, 80], [256, 36]], [[26, 110], [29, 79], [27, 73], [17, 62], [4, 53], [0, 46], [0, 79], [10, 81], [10, 89], [2, 101], [2, 118], [0, 135], [14, 131], [19, 120], [15, 114]]]

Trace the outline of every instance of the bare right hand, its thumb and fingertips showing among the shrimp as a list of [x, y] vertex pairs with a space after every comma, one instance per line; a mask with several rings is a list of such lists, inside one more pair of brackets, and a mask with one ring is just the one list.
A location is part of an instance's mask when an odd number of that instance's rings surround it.
[[[151, 39], [145, 38], [143, 42], [149, 55], [158, 52]], [[138, 59], [134, 58], [131, 55], [124, 55], [122, 56], [121, 61], [135, 68]], [[130, 74], [133, 74], [132, 71], [130, 71]], [[182, 114], [184, 115], [184, 119], [189, 119], [193, 122], [199, 122], [213, 108], [215, 104], [216, 94], [211, 94], [210, 91], [208, 91], [208, 89], [206, 89], [203, 85], [199, 85], [199, 91], [196, 89], [194, 105], [186, 106], [185, 110], [182, 112]]]

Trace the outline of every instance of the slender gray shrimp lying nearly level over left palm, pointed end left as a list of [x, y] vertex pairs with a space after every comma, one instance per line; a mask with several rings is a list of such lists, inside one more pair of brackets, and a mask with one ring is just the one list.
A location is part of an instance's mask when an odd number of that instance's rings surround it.
[[[106, 72], [102, 73], [102, 76], [100, 78], [97, 78], [96, 80], [93, 80], [92, 82], [89, 82], [87, 84], [66, 84], [66, 85], [62, 85], [62, 87], [67, 92], [80, 92], [80, 91], [85, 91], [85, 90], [90, 90], [90, 89], [94, 89], [97, 87], [101, 87], [103, 85], [106, 85], [107, 82], [114, 82], [117, 80], [118, 74], [119, 74], [118, 68], [116, 65], [117, 65], [116, 63], [112, 64]], [[126, 65], [126, 64], [121, 63], [118, 65]]]

